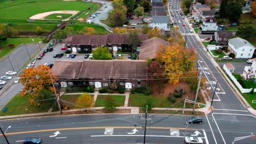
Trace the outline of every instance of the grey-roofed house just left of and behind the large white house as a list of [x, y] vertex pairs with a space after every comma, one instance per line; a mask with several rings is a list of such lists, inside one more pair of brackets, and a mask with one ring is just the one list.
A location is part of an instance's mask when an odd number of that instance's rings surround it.
[[218, 45], [228, 45], [229, 39], [235, 34], [235, 31], [217, 31], [214, 33], [214, 40]]

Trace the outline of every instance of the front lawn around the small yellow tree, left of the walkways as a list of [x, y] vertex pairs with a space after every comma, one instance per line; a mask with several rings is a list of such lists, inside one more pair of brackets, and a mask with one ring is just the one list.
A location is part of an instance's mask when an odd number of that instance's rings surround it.
[[[65, 103], [62, 101], [63, 104], [65, 104], [66, 107], [69, 107], [69, 109], [81, 109], [82, 107], [80, 106], [75, 106], [75, 102], [77, 102], [77, 99], [81, 96], [82, 94], [71, 94], [71, 95], [62, 95], [61, 99], [68, 101], [69, 103]], [[94, 95], [91, 95], [91, 97], [94, 97]], [[73, 105], [74, 104], [74, 105]], [[65, 107], [63, 107], [65, 108]]]

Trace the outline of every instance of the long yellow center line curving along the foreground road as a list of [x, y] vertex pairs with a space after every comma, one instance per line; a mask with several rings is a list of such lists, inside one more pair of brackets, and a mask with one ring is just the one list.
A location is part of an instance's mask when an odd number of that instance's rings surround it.
[[[26, 133], [40, 133], [45, 131], [60, 131], [60, 130], [79, 130], [79, 129], [106, 129], [106, 128], [115, 128], [115, 129], [143, 129], [142, 127], [81, 127], [81, 128], [60, 128], [60, 129], [43, 129], [43, 130], [31, 130], [31, 131], [20, 131], [14, 133], [6, 133], [5, 135], [15, 135], [15, 134], [26, 134]], [[171, 127], [148, 127], [148, 129], [181, 129], [185, 130], [186, 128], [171, 128]], [[187, 128], [188, 130], [202, 130], [202, 129], [192, 129]], [[0, 134], [1, 136], [2, 134]]]

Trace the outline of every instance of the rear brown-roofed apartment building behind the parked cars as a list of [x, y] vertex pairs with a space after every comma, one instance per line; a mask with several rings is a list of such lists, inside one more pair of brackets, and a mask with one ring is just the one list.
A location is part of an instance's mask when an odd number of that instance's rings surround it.
[[[138, 34], [136, 47], [141, 46], [141, 41], [148, 39], [148, 34]], [[108, 35], [68, 35], [65, 40], [67, 50], [72, 52], [84, 51], [90, 53], [98, 46], [109, 47], [113, 51], [129, 51], [132, 52], [132, 45], [134, 41], [131, 40], [130, 34], [108, 34]]]

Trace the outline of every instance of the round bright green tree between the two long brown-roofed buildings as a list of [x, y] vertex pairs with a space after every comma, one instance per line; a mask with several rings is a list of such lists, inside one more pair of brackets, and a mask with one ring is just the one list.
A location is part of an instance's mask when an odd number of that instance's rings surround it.
[[92, 59], [111, 60], [112, 55], [107, 47], [98, 46], [96, 50], [92, 51]]

